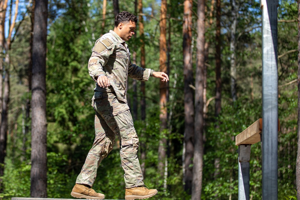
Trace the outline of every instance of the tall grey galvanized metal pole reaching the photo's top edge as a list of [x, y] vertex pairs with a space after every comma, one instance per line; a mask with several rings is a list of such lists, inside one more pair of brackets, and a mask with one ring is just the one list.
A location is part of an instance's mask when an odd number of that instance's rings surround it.
[[261, 0], [262, 6], [262, 199], [278, 199], [278, 0]]

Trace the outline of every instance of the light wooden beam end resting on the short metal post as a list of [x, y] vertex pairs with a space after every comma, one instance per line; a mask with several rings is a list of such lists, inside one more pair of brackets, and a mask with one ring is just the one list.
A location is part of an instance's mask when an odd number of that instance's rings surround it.
[[235, 136], [235, 145], [253, 145], [256, 142], [260, 142], [260, 133], [262, 132], [262, 119], [256, 120], [243, 132]]

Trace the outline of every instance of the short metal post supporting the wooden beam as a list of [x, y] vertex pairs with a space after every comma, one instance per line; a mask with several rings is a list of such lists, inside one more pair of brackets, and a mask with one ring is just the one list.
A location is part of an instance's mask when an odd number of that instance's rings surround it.
[[251, 145], [238, 145], [238, 200], [250, 199], [250, 151]]

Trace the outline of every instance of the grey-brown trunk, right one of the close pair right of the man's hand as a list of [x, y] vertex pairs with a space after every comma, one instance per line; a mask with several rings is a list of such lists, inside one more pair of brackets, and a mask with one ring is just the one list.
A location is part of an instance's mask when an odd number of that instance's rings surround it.
[[197, 56], [195, 81], [195, 135], [193, 157], [192, 200], [201, 199], [203, 171], [203, 90], [205, 70], [205, 0], [198, 0], [197, 7]]

